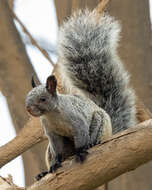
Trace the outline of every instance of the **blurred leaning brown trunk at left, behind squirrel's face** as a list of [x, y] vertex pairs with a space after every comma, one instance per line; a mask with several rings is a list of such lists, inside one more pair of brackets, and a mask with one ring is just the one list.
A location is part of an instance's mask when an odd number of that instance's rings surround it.
[[[7, 99], [17, 133], [28, 120], [24, 104], [26, 94], [31, 89], [32, 73], [34, 73], [33, 68], [14, 26], [8, 3], [6, 0], [0, 0], [0, 90]], [[31, 184], [37, 172], [45, 168], [44, 151], [41, 152], [43, 147], [39, 145], [23, 155], [28, 185]], [[33, 160], [31, 169], [30, 163]], [[30, 173], [29, 170], [31, 170]]]

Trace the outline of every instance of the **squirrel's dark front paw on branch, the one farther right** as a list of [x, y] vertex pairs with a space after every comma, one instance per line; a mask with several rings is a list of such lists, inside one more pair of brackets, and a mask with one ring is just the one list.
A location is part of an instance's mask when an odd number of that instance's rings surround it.
[[87, 155], [88, 155], [87, 149], [88, 148], [86, 148], [86, 147], [76, 149], [76, 157], [75, 157], [75, 159], [76, 159], [77, 162], [82, 163], [82, 162], [84, 162], [86, 160]]

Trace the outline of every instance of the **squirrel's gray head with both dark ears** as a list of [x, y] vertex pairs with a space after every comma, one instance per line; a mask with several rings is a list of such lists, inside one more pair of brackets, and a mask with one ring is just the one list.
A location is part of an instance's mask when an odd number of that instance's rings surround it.
[[33, 89], [27, 94], [26, 109], [35, 117], [39, 117], [57, 106], [57, 80], [54, 75], [47, 78], [46, 85], [37, 86], [32, 77]]

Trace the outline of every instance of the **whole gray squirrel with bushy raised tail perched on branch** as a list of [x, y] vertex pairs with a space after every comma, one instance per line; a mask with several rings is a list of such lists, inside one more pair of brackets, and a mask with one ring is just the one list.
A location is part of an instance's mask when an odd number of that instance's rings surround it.
[[[59, 73], [69, 94], [59, 94], [54, 75], [27, 95], [27, 111], [40, 117], [49, 145], [48, 171], [75, 154], [83, 162], [88, 148], [136, 124], [135, 93], [117, 54], [120, 25], [104, 13], [77, 11], [60, 28]], [[70, 94], [76, 89], [76, 94]], [[72, 91], [72, 90], [71, 90]]]

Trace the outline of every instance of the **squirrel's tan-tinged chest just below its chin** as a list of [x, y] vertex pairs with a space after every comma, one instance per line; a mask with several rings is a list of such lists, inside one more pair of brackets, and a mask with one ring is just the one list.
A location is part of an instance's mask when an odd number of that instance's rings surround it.
[[49, 113], [41, 116], [46, 135], [54, 132], [61, 136], [72, 137], [72, 126], [62, 114]]

